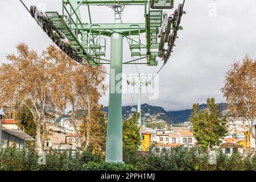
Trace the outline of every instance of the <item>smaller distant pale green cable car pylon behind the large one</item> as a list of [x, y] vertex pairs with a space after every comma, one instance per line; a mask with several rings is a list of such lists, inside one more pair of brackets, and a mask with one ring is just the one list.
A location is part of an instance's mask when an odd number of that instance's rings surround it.
[[[131, 75], [128, 77], [128, 84], [131, 86], [138, 86], [138, 106], [137, 106], [137, 113], [139, 113], [139, 119], [138, 119], [138, 126], [140, 128], [139, 135], [141, 136], [141, 129], [142, 129], [142, 123], [141, 123], [141, 90], [142, 86], [147, 86], [150, 84], [150, 81], [148, 79], [148, 75]], [[141, 146], [139, 146], [139, 151], [141, 151]]]

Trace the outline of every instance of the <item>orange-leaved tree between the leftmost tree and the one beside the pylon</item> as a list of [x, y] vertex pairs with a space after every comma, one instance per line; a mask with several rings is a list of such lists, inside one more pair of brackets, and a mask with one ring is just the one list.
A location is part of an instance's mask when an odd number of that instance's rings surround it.
[[77, 110], [77, 92], [76, 92], [76, 77], [80, 76], [77, 74], [76, 69], [79, 64], [66, 55], [61, 49], [55, 46], [49, 46], [47, 48], [49, 59], [55, 60], [55, 64], [49, 72], [54, 79], [52, 84], [52, 101], [55, 107], [64, 113], [67, 106], [71, 106], [71, 122], [74, 126], [77, 137], [77, 145], [81, 147], [81, 131], [80, 125], [82, 119], [75, 119]]

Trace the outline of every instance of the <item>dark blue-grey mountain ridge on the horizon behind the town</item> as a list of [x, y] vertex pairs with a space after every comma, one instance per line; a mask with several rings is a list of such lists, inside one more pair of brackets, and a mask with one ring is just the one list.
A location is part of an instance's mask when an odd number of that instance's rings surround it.
[[[137, 106], [134, 106], [137, 109]], [[199, 105], [199, 109], [205, 109], [207, 107], [206, 104]], [[224, 111], [226, 109], [227, 105], [226, 103], [220, 103], [220, 112]], [[103, 111], [108, 113], [108, 107], [103, 107]], [[151, 106], [148, 104], [142, 104], [141, 105], [141, 113], [144, 115], [144, 113], [148, 113], [150, 111], [150, 114], [161, 114], [159, 119], [163, 119], [167, 121], [170, 124], [177, 124], [177, 123], [183, 123], [188, 121], [192, 109], [186, 109], [186, 110], [179, 110], [179, 111], [166, 111], [163, 109], [163, 107], [160, 106]], [[122, 107], [122, 115], [123, 118], [126, 118], [126, 115], [131, 113], [131, 106], [123, 106]]]

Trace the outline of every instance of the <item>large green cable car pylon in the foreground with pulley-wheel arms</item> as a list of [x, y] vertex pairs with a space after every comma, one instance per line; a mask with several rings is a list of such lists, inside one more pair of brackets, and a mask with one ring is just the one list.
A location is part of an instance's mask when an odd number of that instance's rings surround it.
[[[114, 23], [92, 23], [90, 6], [111, 7], [114, 10]], [[122, 23], [121, 15], [125, 6], [144, 7], [144, 23]], [[184, 14], [180, 4], [174, 14], [167, 16], [163, 9], [172, 9], [174, 0], [63, 0], [62, 14], [57, 11], [39, 11], [31, 6], [30, 13], [46, 34], [67, 55], [75, 61], [91, 67], [110, 64], [110, 93], [108, 112], [108, 131], [106, 141], [106, 162], [122, 163], [122, 77], [123, 64], [146, 64], [157, 66], [156, 57], [162, 57], [164, 64], [171, 56], [181, 30], [180, 19]], [[81, 7], [88, 7], [89, 19], [82, 21]], [[100, 11], [99, 11], [100, 12]], [[104, 16], [102, 16], [104, 18]], [[84, 20], [84, 19], [83, 19]], [[141, 43], [141, 34], [146, 34], [146, 43]], [[106, 51], [106, 39], [111, 39], [110, 60], [103, 59]], [[128, 40], [131, 56], [138, 59], [123, 61], [123, 38]], [[135, 61], [141, 60], [140, 63]], [[119, 88], [119, 89], [117, 89]]]

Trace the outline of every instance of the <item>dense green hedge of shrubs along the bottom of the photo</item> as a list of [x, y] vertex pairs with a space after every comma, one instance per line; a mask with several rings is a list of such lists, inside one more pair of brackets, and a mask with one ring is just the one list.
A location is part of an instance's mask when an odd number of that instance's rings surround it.
[[217, 163], [209, 164], [209, 155], [200, 147], [180, 146], [171, 150], [150, 150], [147, 153], [124, 148], [125, 164], [108, 164], [104, 162], [104, 153], [93, 153], [91, 149], [82, 152], [51, 151], [46, 155], [46, 165], [38, 164], [38, 154], [33, 146], [26, 145], [18, 151], [15, 147], [0, 151], [0, 170], [164, 170], [164, 171], [196, 171], [196, 170], [256, 170], [256, 155], [242, 157], [238, 152], [228, 156], [217, 152]]

